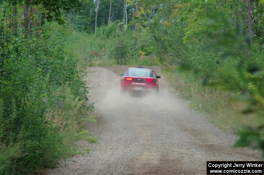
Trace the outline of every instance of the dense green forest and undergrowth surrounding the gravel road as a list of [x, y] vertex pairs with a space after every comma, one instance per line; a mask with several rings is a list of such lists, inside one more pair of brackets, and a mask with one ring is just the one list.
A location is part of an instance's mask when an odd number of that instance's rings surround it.
[[[97, 142], [87, 66], [162, 66], [175, 93], [264, 151], [263, 0], [3, 0], [0, 174], [32, 174]], [[89, 105], [87, 105], [89, 104]]]

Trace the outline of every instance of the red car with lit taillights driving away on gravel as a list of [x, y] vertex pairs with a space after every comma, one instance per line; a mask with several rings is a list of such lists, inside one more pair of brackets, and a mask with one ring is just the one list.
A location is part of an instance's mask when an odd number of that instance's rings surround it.
[[128, 68], [124, 74], [120, 74], [121, 92], [147, 92], [159, 91], [159, 81], [156, 73], [152, 69], [143, 67]]

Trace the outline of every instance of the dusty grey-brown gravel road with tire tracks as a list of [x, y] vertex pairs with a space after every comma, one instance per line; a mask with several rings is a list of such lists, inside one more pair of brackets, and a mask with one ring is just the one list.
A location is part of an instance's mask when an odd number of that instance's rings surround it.
[[259, 160], [259, 152], [234, 149], [237, 139], [188, 108], [170, 93], [160, 67], [158, 96], [120, 94], [127, 66], [89, 67], [89, 101], [95, 102], [96, 123], [87, 123], [98, 144], [81, 142], [88, 154], [67, 160], [67, 166], [47, 170], [57, 174], [206, 174], [209, 160]]

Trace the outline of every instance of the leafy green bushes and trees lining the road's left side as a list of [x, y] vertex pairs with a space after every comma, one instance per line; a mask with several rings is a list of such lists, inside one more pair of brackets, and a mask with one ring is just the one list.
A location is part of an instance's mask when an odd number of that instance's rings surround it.
[[0, 174], [56, 167], [79, 153], [77, 140], [96, 142], [82, 125], [95, 121], [93, 106], [60, 12], [81, 4], [46, 2], [0, 5]]

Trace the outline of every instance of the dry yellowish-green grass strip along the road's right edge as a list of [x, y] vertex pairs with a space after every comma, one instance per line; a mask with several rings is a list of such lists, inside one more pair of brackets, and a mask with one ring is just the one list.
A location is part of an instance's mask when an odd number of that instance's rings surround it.
[[192, 109], [209, 114], [208, 120], [224, 131], [238, 133], [247, 126], [264, 124], [259, 115], [242, 113], [246, 104], [236, 102], [235, 94], [205, 87], [201, 81], [192, 80], [191, 74], [178, 72], [176, 67], [165, 67], [163, 72], [174, 92], [188, 99]]

